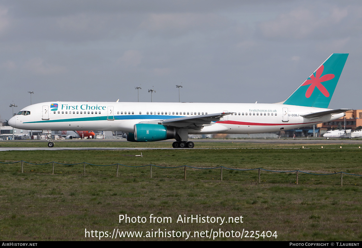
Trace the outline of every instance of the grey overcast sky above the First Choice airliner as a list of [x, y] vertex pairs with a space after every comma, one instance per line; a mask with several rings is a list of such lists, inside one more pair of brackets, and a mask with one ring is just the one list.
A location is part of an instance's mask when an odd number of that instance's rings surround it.
[[0, 2], [0, 119], [45, 101], [275, 103], [349, 53], [329, 108], [362, 109], [362, 1]]

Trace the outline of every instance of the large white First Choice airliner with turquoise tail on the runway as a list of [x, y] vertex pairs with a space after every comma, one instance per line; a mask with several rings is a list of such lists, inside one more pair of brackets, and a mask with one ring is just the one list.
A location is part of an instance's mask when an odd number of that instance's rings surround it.
[[[328, 109], [328, 105], [347, 57], [348, 53], [333, 53], [280, 103], [54, 101], [27, 106], [8, 123], [19, 129], [43, 132], [126, 131], [127, 140], [132, 142], [176, 139], [174, 148], [193, 148], [188, 134], [252, 134], [296, 129], [345, 116], [349, 109]], [[52, 140], [48, 146], [54, 146]]]

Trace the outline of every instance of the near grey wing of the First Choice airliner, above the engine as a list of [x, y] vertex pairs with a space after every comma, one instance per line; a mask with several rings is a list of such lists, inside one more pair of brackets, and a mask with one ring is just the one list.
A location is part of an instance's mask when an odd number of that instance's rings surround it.
[[234, 112], [223, 112], [223, 113], [215, 113], [215, 114], [202, 114], [198, 116], [186, 116], [179, 118], [171, 118], [171, 119], [163, 119], [158, 121], [146, 121], [141, 123], [157, 123], [165, 126], [171, 127], [203, 127], [203, 126], [211, 126], [216, 121], [220, 121], [223, 116], [228, 114], [232, 114]]

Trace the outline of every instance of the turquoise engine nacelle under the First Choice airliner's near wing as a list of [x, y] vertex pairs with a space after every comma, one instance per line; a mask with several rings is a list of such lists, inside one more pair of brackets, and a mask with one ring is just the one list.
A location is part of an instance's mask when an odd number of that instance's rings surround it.
[[176, 129], [174, 127], [146, 123], [134, 125], [134, 139], [138, 142], [174, 139], [175, 136]]

